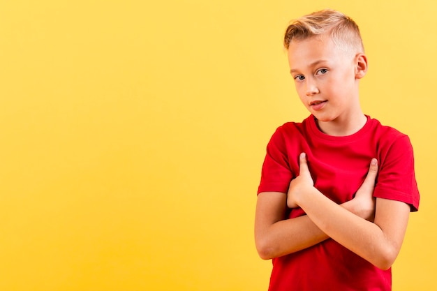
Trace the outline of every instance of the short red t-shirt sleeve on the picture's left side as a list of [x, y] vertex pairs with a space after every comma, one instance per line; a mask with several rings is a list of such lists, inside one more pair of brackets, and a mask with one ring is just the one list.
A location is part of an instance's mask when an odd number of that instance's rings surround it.
[[267, 144], [267, 154], [262, 164], [258, 194], [262, 192], [287, 193], [293, 177], [288, 161], [286, 142], [280, 127]]

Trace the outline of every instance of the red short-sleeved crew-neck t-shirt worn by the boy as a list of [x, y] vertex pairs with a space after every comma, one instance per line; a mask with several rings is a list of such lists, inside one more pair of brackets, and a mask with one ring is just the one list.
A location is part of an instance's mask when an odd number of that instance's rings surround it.
[[[299, 174], [299, 154], [305, 152], [314, 186], [334, 202], [353, 198], [360, 188], [371, 158], [378, 159], [374, 197], [419, 207], [413, 148], [407, 135], [367, 117], [357, 133], [335, 137], [322, 133], [311, 115], [302, 123], [279, 127], [262, 165], [258, 193], [288, 192]], [[288, 218], [304, 215], [292, 209]], [[273, 259], [269, 290], [391, 290], [391, 269], [373, 266], [332, 239], [302, 251]]]

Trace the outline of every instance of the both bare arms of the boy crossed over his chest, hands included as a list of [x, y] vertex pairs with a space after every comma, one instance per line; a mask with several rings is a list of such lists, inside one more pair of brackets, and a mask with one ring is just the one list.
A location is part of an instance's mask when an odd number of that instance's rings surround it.
[[[299, 176], [290, 182], [288, 193], [258, 195], [255, 245], [260, 257], [280, 257], [332, 238], [376, 267], [390, 268], [405, 236], [410, 207], [373, 198], [376, 160], [354, 199], [340, 205], [314, 188], [304, 154], [299, 163]], [[287, 205], [301, 207], [306, 215], [285, 219]]]

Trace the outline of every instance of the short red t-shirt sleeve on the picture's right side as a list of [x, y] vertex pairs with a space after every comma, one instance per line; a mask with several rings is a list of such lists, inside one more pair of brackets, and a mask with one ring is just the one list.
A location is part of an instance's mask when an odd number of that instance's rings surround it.
[[419, 209], [420, 195], [414, 170], [413, 147], [407, 135], [397, 137], [380, 152], [380, 167], [373, 195], [410, 204], [411, 211]]

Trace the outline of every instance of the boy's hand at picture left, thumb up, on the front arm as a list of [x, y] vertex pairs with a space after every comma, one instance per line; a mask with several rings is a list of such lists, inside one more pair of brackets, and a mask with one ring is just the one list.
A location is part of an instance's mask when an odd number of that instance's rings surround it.
[[292, 179], [288, 188], [287, 206], [290, 208], [299, 207], [296, 202], [297, 195], [307, 193], [310, 188], [313, 188], [314, 181], [306, 164], [306, 154], [299, 155], [299, 176]]

